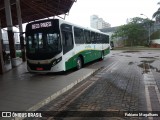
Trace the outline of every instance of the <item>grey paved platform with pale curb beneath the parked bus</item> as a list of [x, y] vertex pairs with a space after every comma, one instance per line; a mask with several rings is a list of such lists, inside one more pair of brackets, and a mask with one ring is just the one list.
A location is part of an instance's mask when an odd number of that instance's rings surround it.
[[69, 74], [42, 75], [28, 73], [26, 63], [22, 63], [0, 75], [0, 111], [37, 110], [101, 67], [103, 64], [95, 62]]

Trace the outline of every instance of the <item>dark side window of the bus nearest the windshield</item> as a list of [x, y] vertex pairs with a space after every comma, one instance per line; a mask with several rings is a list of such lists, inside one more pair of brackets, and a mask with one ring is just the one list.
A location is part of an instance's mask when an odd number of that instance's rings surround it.
[[73, 35], [69, 31], [62, 31], [63, 54], [73, 49]]

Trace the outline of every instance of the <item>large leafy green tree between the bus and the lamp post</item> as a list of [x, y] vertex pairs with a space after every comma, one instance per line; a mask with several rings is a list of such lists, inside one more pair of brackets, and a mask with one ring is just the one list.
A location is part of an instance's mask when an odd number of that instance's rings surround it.
[[145, 36], [147, 30], [144, 25], [146, 24], [146, 19], [135, 17], [130, 19], [128, 24], [120, 26], [117, 31], [112, 35], [112, 39], [115, 37], [125, 40], [125, 45], [144, 45]]

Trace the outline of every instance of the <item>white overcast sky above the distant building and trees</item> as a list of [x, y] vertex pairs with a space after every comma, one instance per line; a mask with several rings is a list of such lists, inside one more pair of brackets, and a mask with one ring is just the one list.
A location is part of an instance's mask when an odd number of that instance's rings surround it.
[[127, 18], [152, 15], [160, 5], [160, 0], [77, 0], [70, 9], [67, 21], [81, 26], [90, 26], [90, 16], [98, 15], [112, 27], [126, 24]]

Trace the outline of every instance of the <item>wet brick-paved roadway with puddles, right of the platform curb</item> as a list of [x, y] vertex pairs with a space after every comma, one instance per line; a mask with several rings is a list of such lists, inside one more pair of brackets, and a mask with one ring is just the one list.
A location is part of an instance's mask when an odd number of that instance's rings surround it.
[[[110, 65], [103, 63], [101, 70], [39, 109], [53, 112], [43, 119], [159, 120], [160, 51], [113, 50], [107, 59]], [[57, 111], [70, 112], [53, 117]]]

